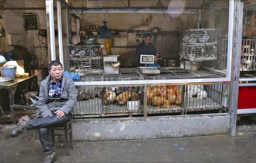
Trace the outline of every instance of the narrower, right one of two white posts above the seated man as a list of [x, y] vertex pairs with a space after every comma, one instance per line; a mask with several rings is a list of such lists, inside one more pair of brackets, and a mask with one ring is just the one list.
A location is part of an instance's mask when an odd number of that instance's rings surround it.
[[62, 64], [64, 69], [63, 62], [63, 46], [62, 46], [62, 28], [61, 28], [61, 2], [57, 1], [57, 21], [58, 21], [58, 41], [59, 41], [59, 62]]

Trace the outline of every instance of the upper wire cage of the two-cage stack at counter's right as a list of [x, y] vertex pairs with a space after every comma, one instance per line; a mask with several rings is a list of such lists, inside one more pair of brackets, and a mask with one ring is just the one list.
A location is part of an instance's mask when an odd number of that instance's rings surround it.
[[184, 44], [217, 44], [218, 29], [190, 29], [184, 31]]

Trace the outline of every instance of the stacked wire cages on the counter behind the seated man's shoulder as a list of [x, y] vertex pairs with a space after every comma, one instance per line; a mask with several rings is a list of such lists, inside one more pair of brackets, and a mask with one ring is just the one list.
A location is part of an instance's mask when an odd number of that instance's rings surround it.
[[102, 73], [100, 45], [69, 45], [69, 71], [82, 74]]

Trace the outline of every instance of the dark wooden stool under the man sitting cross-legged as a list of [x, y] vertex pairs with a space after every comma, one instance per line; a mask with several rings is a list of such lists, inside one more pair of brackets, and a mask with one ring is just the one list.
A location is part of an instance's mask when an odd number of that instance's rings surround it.
[[[64, 130], [65, 134], [56, 134], [54, 130]], [[52, 141], [54, 141], [54, 136], [63, 136], [65, 135], [65, 142], [66, 142], [66, 155], [69, 156], [69, 148], [73, 149], [73, 134], [72, 134], [72, 122], [71, 120], [67, 123], [55, 125], [51, 128], [52, 131]], [[70, 144], [69, 144], [70, 143]]]

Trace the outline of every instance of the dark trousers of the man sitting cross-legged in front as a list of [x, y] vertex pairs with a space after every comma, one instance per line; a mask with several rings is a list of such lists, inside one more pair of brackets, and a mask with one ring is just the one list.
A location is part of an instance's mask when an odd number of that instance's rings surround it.
[[54, 112], [55, 111], [52, 111], [52, 116], [29, 120], [26, 123], [27, 130], [38, 129], [39, 140], [42, 144], [42, 147], [44, 147], [44, 152], [46, 153], [55, 151], [55, 146], [51, 138], [50, 128], [58, 124], [67, 123], [72, 118], [71, 113], [61, 118], [57, 118], [57, 115]]

